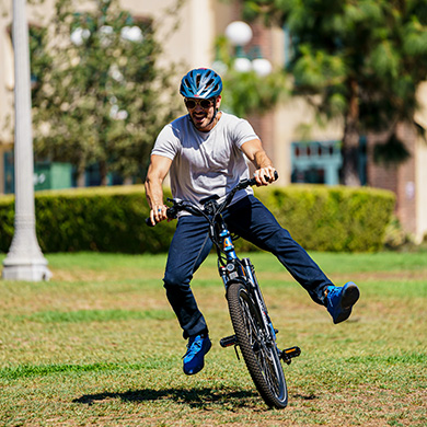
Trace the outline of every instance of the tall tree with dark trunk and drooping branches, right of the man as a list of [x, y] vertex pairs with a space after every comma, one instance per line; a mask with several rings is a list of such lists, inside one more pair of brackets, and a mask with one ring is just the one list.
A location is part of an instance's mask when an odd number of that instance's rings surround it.
[[244, 0], [246, 18], [263, 14], [286, 25], [295, 56], [293, 92], [326, 119], [343, 117], [343, 183], [359, 185], [358, 145], [369, 130], [385, 131], [376, 152], [383, 161], [408, 153], [400, 123], [414, 125], [416, 91], [427, 77], [424, 0]]

